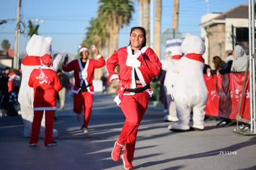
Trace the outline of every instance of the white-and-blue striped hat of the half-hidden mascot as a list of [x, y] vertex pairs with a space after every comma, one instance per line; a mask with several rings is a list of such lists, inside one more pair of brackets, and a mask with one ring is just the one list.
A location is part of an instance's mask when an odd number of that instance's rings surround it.
[[181, 50], [182, 39], [168, 38], [166, 40], [166, 53], [171, 52], [172, 56], [182, 56]]

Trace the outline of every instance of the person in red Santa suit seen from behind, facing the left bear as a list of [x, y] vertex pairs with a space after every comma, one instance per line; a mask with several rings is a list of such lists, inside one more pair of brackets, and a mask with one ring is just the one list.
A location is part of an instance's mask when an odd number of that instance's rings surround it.
[[34, 89], [34, 117], [30, 146], [36, 146], [40, 134], [41, 121], [45, 111], [45, 145], [57, 145], [53, 140], [54, 114], [56, 110], [56, 91], [61, 90], [61, 82], [52, 66], [49, 54], [41, 57], [42, 66], [34, 69], [28, 80], [28, 85]]

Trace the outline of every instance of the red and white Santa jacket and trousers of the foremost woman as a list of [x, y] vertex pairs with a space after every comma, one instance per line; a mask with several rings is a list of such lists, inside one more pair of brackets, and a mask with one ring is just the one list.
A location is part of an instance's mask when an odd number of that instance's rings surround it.
[[[119, 64], [119, 75], [114, 72], [114, 68]], [[126, 144], [124, 155], [128, 161], [134, 158], [135, 141], [140, 122], [148, 106], [148, 99], [153, 94], [151, 88], [134, 93], [126, 89], [138, 89], [150, 84], [152, 77], [160, 72], [161, 63], [153, 49], [147, 46], [138, 49], [136, 54], [132, 54], [130, 46], [118, 49], [109, 57], [106, 65], [110, 76], [110, 82], [113, 79], [119, 79], [120, 85], [117, 90], [117, 96], [114, 101], [121, 107], [126, 121], [122, 127], [117, 142], [120, 145]], [[141, 84], [137, 85], [135, 74]]]

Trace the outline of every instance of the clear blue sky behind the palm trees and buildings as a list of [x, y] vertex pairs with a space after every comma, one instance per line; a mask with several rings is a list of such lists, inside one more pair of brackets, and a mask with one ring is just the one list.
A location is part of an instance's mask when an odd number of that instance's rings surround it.
[[[155, 3], [155, 0], [153, 1]], [[173, 0], [162, 0], [162, 27], [164, 33], [173, 26]], [[7, 23], [0, 25], [0, 42], [6, 39], [14, 48], [15, 25], [18, 0], [0, 0], [0, 21]], [[239, 4], [248, 4], [248, 0], [180, 0], [179, 1], [179, 28], [185, 35], [191, 32], [200, 35], [202, 15], [207, 12], [226, 12]], [[155, 4], [154, 4], [155, 5]], [[119, 48], [129, 43], [130, 28], [139, 25], [139, 3], [134, 1], [135, 12], [130, 24], [119, 32]], [[20, 35], [20, 53], [25, 52], [29, 40], [28, 20], [38, 19], [40, 24], [38, 33], [53, 38], [53, 50], [62, 53], [74, 53], [85, 38], [86, 28], [92, 17], [96, 17], [98, 1], [96, 0], [22, 0], [20, 14], [25, 23], [24, 33]], [[42, 22], [43, 21], [43, 22]], [[35, 23], [35, 22], [34, 22]]]

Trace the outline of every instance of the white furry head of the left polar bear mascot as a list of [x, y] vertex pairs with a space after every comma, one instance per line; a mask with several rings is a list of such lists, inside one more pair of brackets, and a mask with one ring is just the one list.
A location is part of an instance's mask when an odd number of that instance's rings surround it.
[[33, 35], [27, 43], [26, 51], [28, 56], [43, 56], [51, 54], [51, 43], [53, 38]]

